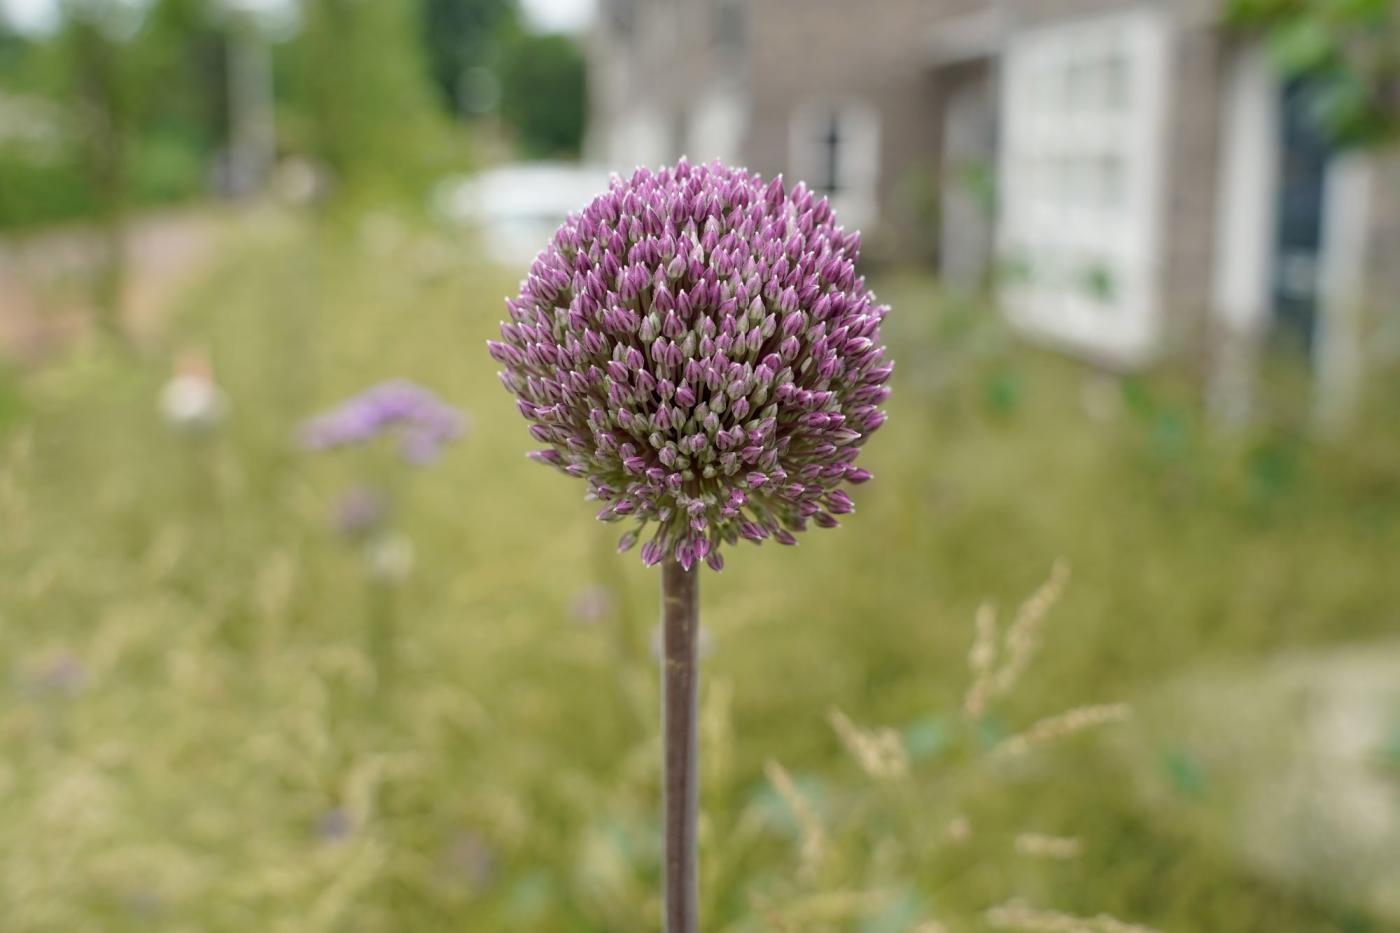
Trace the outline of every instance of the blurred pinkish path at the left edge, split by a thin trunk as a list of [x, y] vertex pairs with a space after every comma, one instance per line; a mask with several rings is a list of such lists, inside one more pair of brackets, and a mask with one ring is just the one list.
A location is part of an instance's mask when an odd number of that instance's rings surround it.
[[[137, 342], [160, 332], [171, 300], [213, 255], [218, 214], [204, 209], [133, 220], [122, 319]], [[92, 321], [97, 231], [84, 227], [0, 238], [0, 357], [36, 363]]]

